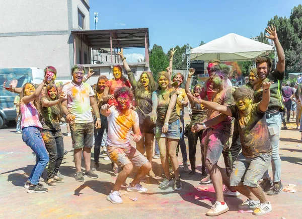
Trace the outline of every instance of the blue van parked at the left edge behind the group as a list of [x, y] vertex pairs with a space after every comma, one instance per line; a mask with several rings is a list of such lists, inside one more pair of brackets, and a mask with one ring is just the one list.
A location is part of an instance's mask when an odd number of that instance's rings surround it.
[[4, 82], [13, 88], [21, 88], [26, 83], [40, 84], [43, 79], [44, 71], [37, 67], [0, 68], [0, 128], [9, 121], [15, 121], [17, 116], [14, 99], [18, 94], [6, 90]]

